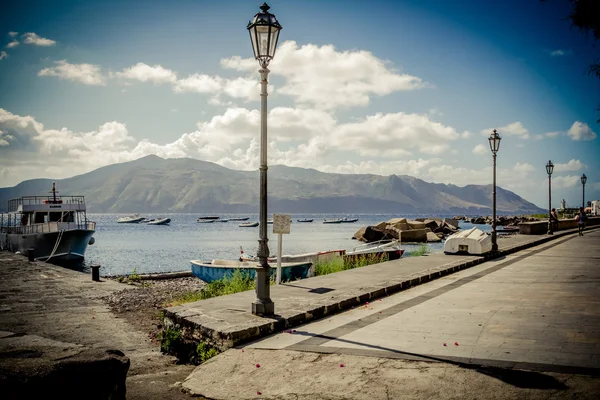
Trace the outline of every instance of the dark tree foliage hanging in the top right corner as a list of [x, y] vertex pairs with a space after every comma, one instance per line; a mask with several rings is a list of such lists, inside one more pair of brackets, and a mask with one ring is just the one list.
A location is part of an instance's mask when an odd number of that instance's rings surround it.
[[[541, 0], [547, 2], [548, 0]], [[592, 34], [595, 41], [600, 40], [600, 0], [568, 0], [571, 13], [565, 19], [579, 28], [586, 37]], [[600, 79], [600, 59], [596, 58], [588, 68], [588, 74]], [[600, 111], [600, 107], [596, 108]], [[600, 119], [597, 121], [600, 123]]]

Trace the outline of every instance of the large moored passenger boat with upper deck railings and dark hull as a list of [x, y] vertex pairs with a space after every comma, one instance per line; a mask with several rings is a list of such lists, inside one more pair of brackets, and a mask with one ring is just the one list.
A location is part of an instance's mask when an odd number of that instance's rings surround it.
[[96, 223], [87, 219], [83, 196], [57, 196], [52, 183], [50, 196], [23, 196], [8, 202], [8, 213], [0, 214], [0, 248], [28, 254], [54, 264], [83, 261]]

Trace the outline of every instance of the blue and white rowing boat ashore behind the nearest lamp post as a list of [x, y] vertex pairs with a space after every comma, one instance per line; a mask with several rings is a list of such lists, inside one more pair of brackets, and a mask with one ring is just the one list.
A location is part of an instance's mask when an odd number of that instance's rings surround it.
[[[259, 265], [255, 261], [233, 260], [212, 260], [210, 263], [192, 260], [190, 263], [192, 264], [192, 273], [207, 283], [230, 277], [236, 270], [248, 275], [251, 279], [255, 279], [256, 268]], [[281, 281], [304, 279], [307, 277], [311, 266], [312, 263], [310, 262], [282, 263]], [[271, 276], [275, 276], [277, 268], [275, 265], [271, 267]]]

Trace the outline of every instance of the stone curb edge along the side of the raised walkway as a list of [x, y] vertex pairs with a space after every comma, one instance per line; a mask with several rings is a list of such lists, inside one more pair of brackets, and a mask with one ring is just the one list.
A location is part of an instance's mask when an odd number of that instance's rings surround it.
[[[598, 227], [593, 227], [598, 228]], [[593, 228], [586, 228], [593, 229]], [[301, 324], [312, 322], [327, 316], [331, 316], [356, 306], [361, 306], [368, 301], [376, 300], [381, 297], [396, 294], [403, 290], [419, 286], [421, 284], [431, 282], [441, 277], [459, 272], [486, 261], [498, 259], [508, 254], [512, 254], [521, 250], [538, 246], [549, 241], [561, 238], [563, 236], [577, 233], [577, 229], [570, 229], [564, 232], [558, 232], [554, 235], [548, 235], [543, 238], [535, 239], [527, 243], [503, 248], [496, 253], [488, 253], [474, 260], [463, 262], [449, 262], [438, 267], [423, 271], [419, 275], [409, 276], [407, 279], [385, 283], [382, 286], [371, 286], [361, 288], [358, 293], [348, 294], [346, 297], [337, 298], [330, 304], [319, 304], [315, 307], [303, 310], [293, 315], [286, 317], [264, 318], [264, 323], [257, 324], [251, 327], [235, 329], [230, 331], [219, 331], [213, 328], [204, 326], [201, 322], [193, 322], [182, 317], [177, 313], [164, 309], [165, 327], [175, 326], [181, 329], [181, 334], [184, 340], [205, 341], [208, 344], [217, 347], [221, 351], [225, 351], [231, 347], [235, 347], [250, 341], [260, 339], [262, 337], [281, 332], [285, 329], [296, 327]]]

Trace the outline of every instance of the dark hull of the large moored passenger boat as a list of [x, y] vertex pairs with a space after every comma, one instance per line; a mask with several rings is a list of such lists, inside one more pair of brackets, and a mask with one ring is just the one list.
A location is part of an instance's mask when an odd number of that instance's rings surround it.
[[[88, 243], [95, 231], [87, 229], [71, 229], [60, 232], [9, 234], [9, 250], [26, 255], [27, 249], [34, 249], [35, 260], [53, 264], [78, 263], [83, 261]], [[58, 247], [52, 254], [58, 242]], [[50, 257], [50, 258], [49, 258]]]

